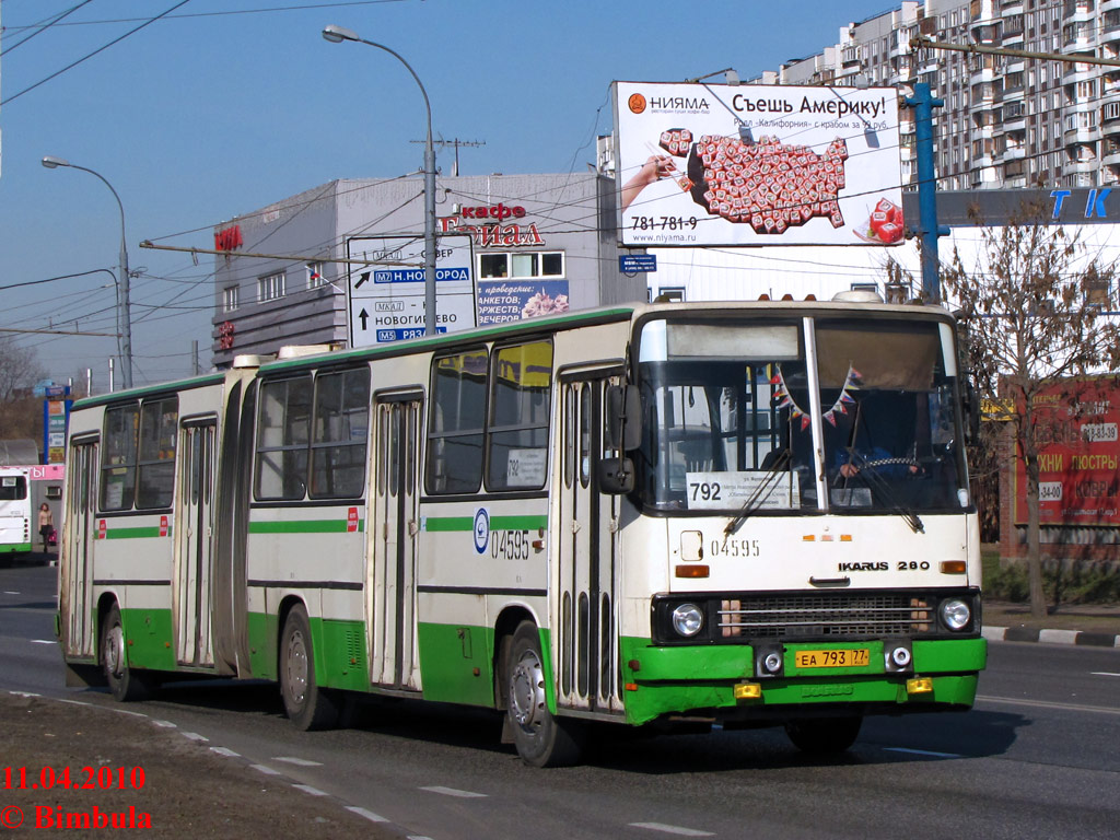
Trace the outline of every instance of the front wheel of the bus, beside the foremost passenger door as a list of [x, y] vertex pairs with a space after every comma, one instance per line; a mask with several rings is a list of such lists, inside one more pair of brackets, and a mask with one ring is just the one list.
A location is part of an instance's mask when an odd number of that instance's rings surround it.
[[506, 715], [522, 760], [533, 767], [564, 767], [582, 753], [578, 721], [549, 712], [540, 635], [532, 622], [513, 634], [506, 660]]

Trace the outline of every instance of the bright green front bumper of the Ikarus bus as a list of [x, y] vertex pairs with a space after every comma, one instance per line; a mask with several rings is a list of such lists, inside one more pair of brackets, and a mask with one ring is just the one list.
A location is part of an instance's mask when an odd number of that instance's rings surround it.
[[[869, 663], [799, 671], [797, 651], [822, 648], [869, 648]], [[913, 671], [887, 673], [883, 642], [786, 644], [784, 650], [783, 675], [756, 679], [750, 645], [659, 647], [647, 638], [623, 638], [626, 720], [645, 724], [690, 713], [750, 720], [772, 718], [775, 707], [828, 703], [880, 711], [968, 708], [976, 700], [977, 675], [988, 656], [983, 638], [915, 641]], [[915, 678], [927, 678], [930, 683], [912, 692], [907, 681]], [[747, 683], [758, 685], [759, 697], [737, 699], [736, 687]]]

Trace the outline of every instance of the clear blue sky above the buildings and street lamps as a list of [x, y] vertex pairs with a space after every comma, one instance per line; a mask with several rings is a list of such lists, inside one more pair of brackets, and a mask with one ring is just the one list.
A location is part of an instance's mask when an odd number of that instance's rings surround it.
[[[592, 162], [595, 136], [610, 129], [612, 81], [729, 66], [748, 78], [898, 6], [188, 0], [128, 35], [180, 1], [0, 0], [0, 327], [115, 332], [112, 277], [97, 270], [119, 262], [116, 204], [92, 175], [39, 161], [94, 169], [121, 197], [129, 262], [143, 270], [131, 296], [136, 384], [189, 374], [193, 339], [208, 367], [214, 300], [212, 256], [196, 265], [142, 240], [212, 248], [223, 220], [335, 178], [422, 166], [409, 141], [423, 138], [423, 104], [408, 72], [371, 47], [327, 43], [327, 24], [409, 60], [437, 137], [485, 142], [460, 150], [463, 175], [567, 172]], [[445, 172], [452, 160], [438, 152]], [[52, 279], [82, 272], [93, 273]], [[92, 367], [94, 391], [105, 390], [115, 338], [18, 340], [56, 382]]]

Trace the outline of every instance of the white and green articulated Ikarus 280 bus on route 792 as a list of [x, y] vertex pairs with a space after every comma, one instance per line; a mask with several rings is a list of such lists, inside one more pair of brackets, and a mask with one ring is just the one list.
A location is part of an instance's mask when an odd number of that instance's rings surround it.
[[240, 357], [81, 400], [59, 636], [121, 700], [279, 683], [486, 707], [530, 765], [589, 727], [965, 710], [984, 666], [955, 325], [654, 304]]

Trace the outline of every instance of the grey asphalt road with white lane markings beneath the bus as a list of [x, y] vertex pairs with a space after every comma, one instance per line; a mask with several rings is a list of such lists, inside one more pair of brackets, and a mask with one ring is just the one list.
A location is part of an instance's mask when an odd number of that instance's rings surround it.
[[[0, 568], [2, 690], [74, 696], [49, 643], [54, 571]], [[351, 728], [298, 732], [270, 685], [180, 684], [133, 708], [433, 840], [1116, 837], [1120, 650], [989, 652], [971, 712], [868, 719], [832, 762], [780, 730], [608, 728], [584, 766], [532, 771], [492, 713], [381, 700]]]

